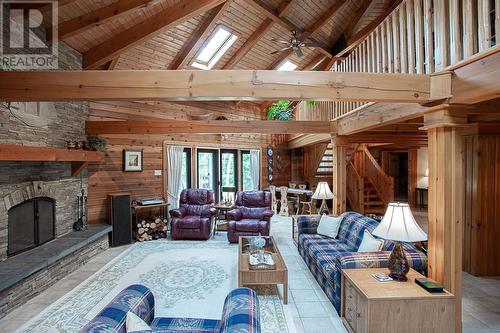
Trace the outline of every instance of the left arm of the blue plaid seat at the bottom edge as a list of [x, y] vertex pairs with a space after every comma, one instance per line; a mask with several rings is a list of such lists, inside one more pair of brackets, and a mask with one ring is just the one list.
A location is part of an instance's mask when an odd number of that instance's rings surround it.
[[113, 300], [85, 325], [85, 333], [126, 333], [127, 312], [133, 312], [148, 325], [155, 315], [155, 300], [151, 290], [134, 284], [122, 290]]

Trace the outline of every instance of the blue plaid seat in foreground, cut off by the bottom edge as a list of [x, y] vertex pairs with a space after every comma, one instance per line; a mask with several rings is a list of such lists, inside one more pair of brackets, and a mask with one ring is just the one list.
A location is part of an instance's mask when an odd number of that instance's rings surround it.
[[131, 311], [161, 333], [260, 333], [259, 303], [255, 291], [238, 288], [224, 302], [221, 320], [154, 318], [151, 290], [134, 284], [121, 291], [80, 333], [126, 333], [127, 312]]

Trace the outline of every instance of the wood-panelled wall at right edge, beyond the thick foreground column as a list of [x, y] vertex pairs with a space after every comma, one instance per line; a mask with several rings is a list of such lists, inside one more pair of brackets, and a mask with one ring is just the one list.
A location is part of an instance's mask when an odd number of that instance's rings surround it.
[[465, 138], [463, 269], [500, 275], [500, 135]]

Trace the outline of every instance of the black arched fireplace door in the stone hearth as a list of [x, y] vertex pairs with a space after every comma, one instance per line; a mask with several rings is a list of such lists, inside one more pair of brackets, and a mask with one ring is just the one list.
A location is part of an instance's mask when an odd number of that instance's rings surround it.
[[12, 256], [54, 239], [55, 202], [50, 198], [24, 201], [9, 210], [8, 250]]

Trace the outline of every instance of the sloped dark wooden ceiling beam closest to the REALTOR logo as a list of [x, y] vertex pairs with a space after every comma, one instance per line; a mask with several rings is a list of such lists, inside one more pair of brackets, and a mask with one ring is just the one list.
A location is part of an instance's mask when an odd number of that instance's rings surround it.
[[58, 28], [59, 39], [64, 40], [84, 30], [104, 24], [111, 19], [117, 19], [134, 9], [147, 6], [150, 2], [151, 0], [120, 0], [90, 13], [61, 22]]

